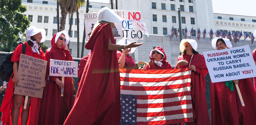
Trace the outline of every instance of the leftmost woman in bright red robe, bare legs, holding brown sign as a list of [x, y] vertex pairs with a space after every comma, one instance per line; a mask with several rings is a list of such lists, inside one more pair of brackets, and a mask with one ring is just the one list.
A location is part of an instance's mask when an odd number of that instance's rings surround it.
[[[41, 28], [30, 26], [27, 28], [27, 42], [25, 55], [36, 57], [44, 60], [44, 52], [38, 47], [38, 43], [45, 41], [46, 31]], [[14, 94], [14, 88], [18, 83], [18, 63], [22, 53], [22, 44], [19, 44], [13, 55], [11, 61], [13, 64], [13, 74], [10, 77], [5, 96], [1, 105], [2, 118], [1, 121], [7, 125], [37, 125], [40, 108], [40, 98], [28, 97], [27, 109], [23, 109], [23, 95]], [[12, 78], [13, 77], [13, 78]]]

